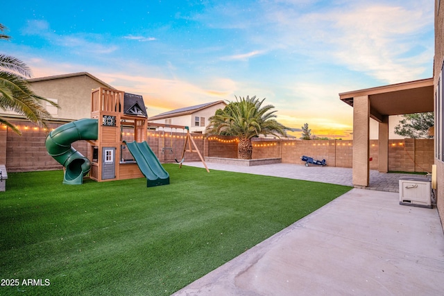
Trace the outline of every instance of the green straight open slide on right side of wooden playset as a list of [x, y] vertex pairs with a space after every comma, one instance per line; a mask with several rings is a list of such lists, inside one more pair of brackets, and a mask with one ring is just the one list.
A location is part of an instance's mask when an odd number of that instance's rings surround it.
[[137, 162], [137, 166], [139, 166], [140, 171], [146, 177], [147, 187], [169, 184], [169, 173], [165, 171], [146, 141], [142, 143], [137, 143], [136, 141], [130, 143], [127, 141], [123, 142], [126, 143], [128, 150], [130, 150]]

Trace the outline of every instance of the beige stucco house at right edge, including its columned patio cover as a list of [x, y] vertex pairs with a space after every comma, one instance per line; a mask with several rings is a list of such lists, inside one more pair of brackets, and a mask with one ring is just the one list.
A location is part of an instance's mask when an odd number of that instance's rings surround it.
[[369, 122], [379, 123], [378, 169], [388, 171], [388, 116], [417, 112], [435, 113], [434, 164], [436, 165], [436, 205], [444, 218], [444, 6], [435, 1], [435, 55], [432, 78], [343, 92], [339, 98], [353, 107], [353, 185], [369, 184]]

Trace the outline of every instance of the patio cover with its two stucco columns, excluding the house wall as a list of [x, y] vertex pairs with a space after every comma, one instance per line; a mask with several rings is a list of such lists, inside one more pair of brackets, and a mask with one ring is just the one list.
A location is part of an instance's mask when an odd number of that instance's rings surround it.
[[353, 107], [353, 185], [368, 186], [370, 177], [369, 119], [379, 122], [378, 170], [388, 171], [388, 116], [434, 111], [433, 78], [343, 92]]

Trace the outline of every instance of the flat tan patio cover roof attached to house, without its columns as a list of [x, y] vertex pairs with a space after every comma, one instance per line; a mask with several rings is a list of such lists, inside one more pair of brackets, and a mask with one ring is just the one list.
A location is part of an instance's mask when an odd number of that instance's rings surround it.
[[368, 96], [370, 116], [377, 121], [382, 121], [384, 115], [411, 114], [434, 110], [433, 78], [339, 94], [341, 101], [352, 107], [354, 98], [358, 96]]

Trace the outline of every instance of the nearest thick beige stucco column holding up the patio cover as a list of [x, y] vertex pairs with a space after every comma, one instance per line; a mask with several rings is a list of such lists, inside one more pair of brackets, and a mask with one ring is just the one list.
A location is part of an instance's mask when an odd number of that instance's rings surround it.
[[369, 180], [370, 100], [353, 98], [353, 186], [366, 187]]

